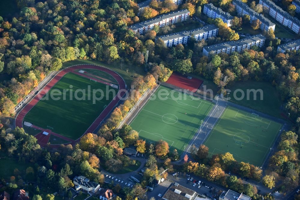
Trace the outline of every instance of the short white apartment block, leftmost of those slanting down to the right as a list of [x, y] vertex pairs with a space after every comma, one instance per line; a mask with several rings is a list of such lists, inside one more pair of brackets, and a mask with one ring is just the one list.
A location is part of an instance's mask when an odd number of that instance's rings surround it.
[[221, 8], [215, 7], [212, 3], [204, 4], [203, 14], [206, 14], [212, 19], [220, 18], [227, 26], [232, 25], [233, 17], [229, 13], [222, 11]]

